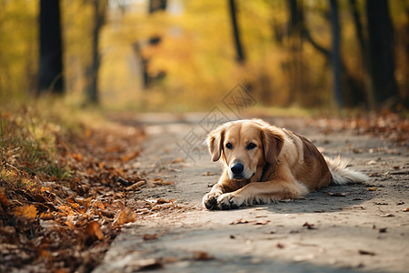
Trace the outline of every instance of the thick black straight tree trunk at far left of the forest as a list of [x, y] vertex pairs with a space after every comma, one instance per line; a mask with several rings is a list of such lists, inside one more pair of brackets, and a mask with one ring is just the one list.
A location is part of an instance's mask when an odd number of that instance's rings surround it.
[[60, 1], [40, 1], [40, 56], [37, 95], [64, 93]]

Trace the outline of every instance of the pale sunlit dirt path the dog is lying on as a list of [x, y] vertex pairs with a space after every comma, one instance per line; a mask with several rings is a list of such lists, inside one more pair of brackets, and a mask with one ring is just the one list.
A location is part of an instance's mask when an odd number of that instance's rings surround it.
[[[341, 153], [371, 179], [364, 185], [328, 187], [300, 200], [206, 211], [201, 199], [217, 181], [220, 167], [211, 162], [203, 140], [196, 141], [205, 135], [201, 117], [121, 119], [129, 124], [138, 120], [150, 136], [138, 168], [149, 178], [175, 181], [145, 187], [135, 198], [174, 198], [176, 207], [124, 229], [95, 272], [407, 272], [407, 147], [351, 132], [324, 136], [299, 118], [270, 119], [311, 139], [327, 156]], [[195, 146], [187, 149], [186, 143]]]

